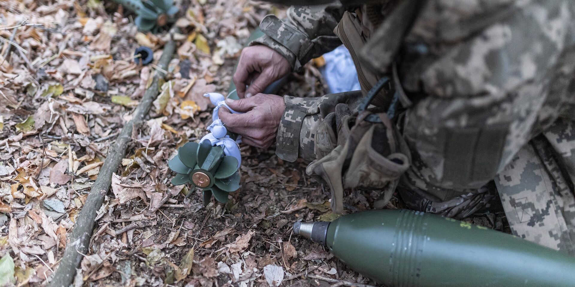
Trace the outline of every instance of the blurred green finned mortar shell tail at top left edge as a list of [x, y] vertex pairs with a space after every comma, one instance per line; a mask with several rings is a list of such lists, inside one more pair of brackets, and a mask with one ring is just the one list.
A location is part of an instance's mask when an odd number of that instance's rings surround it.
[[165, 17], [166, 24], [175, 21], [175, 14], [178, 13], [178, 7], [174, 6], [173, 0], [113, 0], [114, 2], [134, 11], [137, 17], [134, 24], [141, 31], [158, 32], [160, 26], [158, 18], [160, 15]]

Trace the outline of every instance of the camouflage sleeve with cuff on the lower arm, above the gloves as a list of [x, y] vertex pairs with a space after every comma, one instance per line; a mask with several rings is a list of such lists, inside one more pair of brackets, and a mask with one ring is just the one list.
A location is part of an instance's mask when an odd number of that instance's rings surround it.
[[362, 98], [361, 91], [328, 94], [317, 98], [284, 96], [285, 111], [279, 122], [275, 153], [286, 161], [298, 157], [306, 161], [316, 159], [315, 137], [317, 127], [325, 116], [335, 111], [339, 103], [355, 111]]

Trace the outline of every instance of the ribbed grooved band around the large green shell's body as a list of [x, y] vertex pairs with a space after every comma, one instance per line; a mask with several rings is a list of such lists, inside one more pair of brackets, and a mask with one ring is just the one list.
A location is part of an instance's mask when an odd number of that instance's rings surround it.
[[421, 253], [427, 235], [423, 220], [423, 212], [407, 210], [397, 219], [394, 249], [389, 258], [393, 286], [419, 286]]

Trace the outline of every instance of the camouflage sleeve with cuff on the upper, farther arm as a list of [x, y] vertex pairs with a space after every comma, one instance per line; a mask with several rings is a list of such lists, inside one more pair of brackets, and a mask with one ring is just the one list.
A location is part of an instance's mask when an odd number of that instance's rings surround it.
[[250, 45], [269, 46], [285, 57], [293, 71], [301, 71], [309, 60], [332, 51], [342, 44], [333, 29], [342, 18], [341, 4], [317, 6], [292, 6], [287, 10], [287, 18], [279, 20], [275, 15], [267, 15], [260, 23], [264, 36]]

